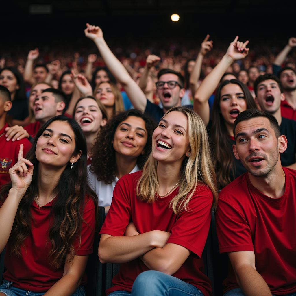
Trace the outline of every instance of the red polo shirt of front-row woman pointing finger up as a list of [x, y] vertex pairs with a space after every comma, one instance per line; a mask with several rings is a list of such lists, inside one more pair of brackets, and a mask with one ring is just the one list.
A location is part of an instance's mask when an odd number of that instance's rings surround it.
[[[10, 252], [9, 242], [6, 245], [4, 265], [7, 270], [3, 277], [7, 281], [12, 281], [14, 287], [38, 293], [46, 292], [63, 276], [64, 267], [56, 269], [51, 265], [48, 256], [51, 250], [51, 244], [48, 242], [49, 216], [57, 198], [40, 209], [33, 201], [31, 233], [25, 238], [24, 245], [20, 248], [20, 257]], [[0, 207], [1, 205], [2, 202]], [[74, 245], [77, 249], [76, 255], [89, 255], [93, 252], [95, 210], [94, 202], [90, 198], [86, 198], [83, 219], [80, 247], [79, 239]], [[83, 284], [86, 284], [85, 275], [81, 281], [81, 285]]]

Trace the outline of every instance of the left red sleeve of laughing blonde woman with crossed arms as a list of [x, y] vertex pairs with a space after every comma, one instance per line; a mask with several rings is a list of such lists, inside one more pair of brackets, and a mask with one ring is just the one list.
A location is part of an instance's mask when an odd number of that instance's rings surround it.
[[125, 177], [116, 183], [110, 209], [100, 234], [123, 236], [131, 217], [128, 182]]

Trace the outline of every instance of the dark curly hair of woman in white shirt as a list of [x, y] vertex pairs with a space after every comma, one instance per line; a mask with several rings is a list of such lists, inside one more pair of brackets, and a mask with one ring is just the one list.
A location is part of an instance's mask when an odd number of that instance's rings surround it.
[[93, 161], [90, 167], [91, 172], [96, 174], [98, 181], [104, 181], [105, 184], [111, 184], [116, 177], [117, 166], [115, 150], [112, 143], [116, 128], [129, 116], [143, 119], [147, 130], [147, 142], [144, 147], [144, 154], [140, 154], [137, 159], [139, 169], [143, 168], [151, 152], [152, 133], [155, 129], [155, 124], [149, 117], [143, 115], [141, 111], [136, 109], [127, 110], [112, 117], [112, 119], [101, 128], [96, 137], [92, 155]]

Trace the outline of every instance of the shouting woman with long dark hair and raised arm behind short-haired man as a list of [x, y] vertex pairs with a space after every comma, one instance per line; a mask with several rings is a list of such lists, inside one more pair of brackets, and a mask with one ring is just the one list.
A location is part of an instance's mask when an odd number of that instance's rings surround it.
[[[235, 144], [233, 126], [237, 115], [247, 109], [256, 108], [252, 94], [247, 87], [237, 79], [220, 82], [228, 67], [236, 60], [247, 56], [246, 48], [249, 41], [242, 43], [238, 36], [229, 45], [226, 54], [218, 65], [206, 76], [194, 95], [193, 109], [202, 118], [210, 130], [213, 142], [214, 165], [220, 188], [226, 186], [235, 178], [245, 173], [246, 170], [239, 160], [236, 160], [232, 152]], [[210, 120], [209, 97], [216, 87], [212, 120]]]

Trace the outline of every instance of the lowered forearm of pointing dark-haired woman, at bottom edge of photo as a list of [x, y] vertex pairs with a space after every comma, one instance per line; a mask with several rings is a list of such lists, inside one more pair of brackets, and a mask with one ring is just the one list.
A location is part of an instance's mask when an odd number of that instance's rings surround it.
[[44, 296], [70, 296], [77, 290], [81, 282], [81, 278], [77, 278], [73, 274], [66, 274], [59, 279]]

